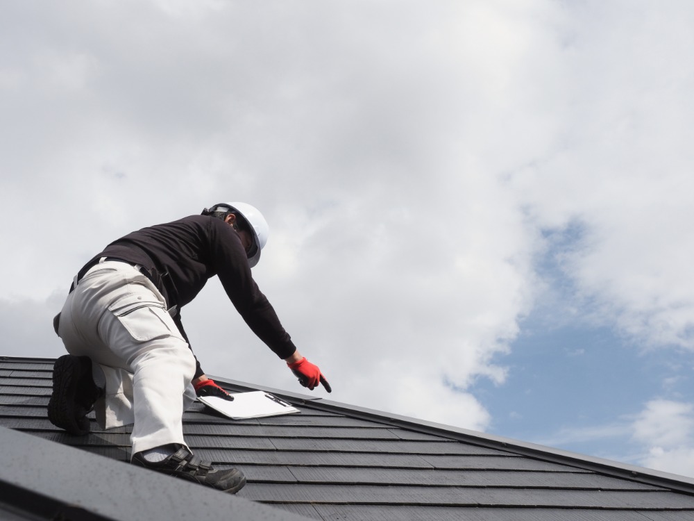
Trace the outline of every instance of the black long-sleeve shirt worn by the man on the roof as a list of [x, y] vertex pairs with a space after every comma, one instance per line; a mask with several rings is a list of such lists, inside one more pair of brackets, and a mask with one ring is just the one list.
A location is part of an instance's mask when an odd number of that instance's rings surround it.
[[[296, 350], [275, 310], [253, 281], [238, 233], [216, 217], [191, 215], [134, 231], [112, 242], [94, 259], [101, 257], [144, 267], [169, 308], [176, 306], [174, 321], [186, 340], [180, 308], [217, 275], [232, 304], [260, 340], [280, 358]], [[204, 372], [198, 362], [195, 377], [201, 374]]]

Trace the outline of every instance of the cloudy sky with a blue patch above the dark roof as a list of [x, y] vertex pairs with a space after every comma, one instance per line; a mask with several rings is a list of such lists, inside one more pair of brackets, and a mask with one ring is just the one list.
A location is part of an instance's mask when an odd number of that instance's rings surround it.
[[[694, 4], [0, 6], [2, 354], [112, 240], [226, 201], [323, 397], [694, 476]], [[305, 390], [211, 279], [211, 375]], [[309, 392], [309, 391], [305, 391]]]

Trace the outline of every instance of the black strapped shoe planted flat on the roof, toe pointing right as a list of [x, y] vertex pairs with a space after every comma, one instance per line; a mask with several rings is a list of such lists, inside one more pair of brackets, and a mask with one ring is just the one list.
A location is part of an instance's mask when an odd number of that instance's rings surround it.
[[185, 447], [180, 447], [176, 454], [171, 454], [164, 461], [158, 463], [147, 461], [142, 456], [142, 452], [138, 452], [133, 456], [132, 463], [169, 474], [169, 476], [197, 481], [201, 485], [217, 488], [217, 490], [223, 490], [230, 494], [237, 493], [246, 485], [246, 477], [240, 470], [235, 468], [214, 470], [210, 461], [202, 461], [198, 456], [193, 456]]

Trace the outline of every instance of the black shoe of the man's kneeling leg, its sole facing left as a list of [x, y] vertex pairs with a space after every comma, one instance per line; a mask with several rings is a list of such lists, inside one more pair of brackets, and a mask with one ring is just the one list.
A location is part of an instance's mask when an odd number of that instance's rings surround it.
[[71, 434], [87, 434], [90, 431], [87, 414], [102, 393], [103, 389], [92, 378], [92, 361], [88, 356], [63, 355], [53, 365], [48, 418], [53, 425]]

